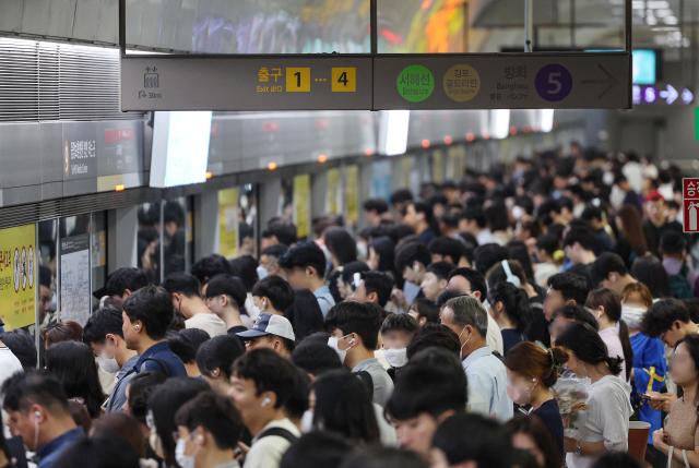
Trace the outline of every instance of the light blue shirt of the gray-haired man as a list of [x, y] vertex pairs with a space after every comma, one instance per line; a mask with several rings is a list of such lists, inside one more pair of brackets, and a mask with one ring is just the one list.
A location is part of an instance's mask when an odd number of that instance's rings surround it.
[[500, 422], [512, 419], [514, 405], [507, 396], [507, 370], [490, 348], [476, 349], [463, 360], [462, 365], [469, 383], [471, 411], [496, 417]]

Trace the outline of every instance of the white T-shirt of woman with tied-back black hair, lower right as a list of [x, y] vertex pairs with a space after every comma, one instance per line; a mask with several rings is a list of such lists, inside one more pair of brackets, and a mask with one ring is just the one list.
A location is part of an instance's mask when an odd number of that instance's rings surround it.
[[[606, 375], [590, 385], [588, 410], [580, 415], [578, 435], [584, 442], [604, 442], [609, 452], [628, 449], [629, 418], [633, 412], [629, 395], [631, 387], [624, 380]], [[566, 455], [569, 468], [588, 468], [595, 457]]]

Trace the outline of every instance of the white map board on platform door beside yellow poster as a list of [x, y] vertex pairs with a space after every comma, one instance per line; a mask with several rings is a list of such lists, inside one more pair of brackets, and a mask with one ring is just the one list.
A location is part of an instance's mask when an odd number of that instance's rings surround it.
[[61, 239], [61, 320], [85, 325], [91, 311], [90, 235]]

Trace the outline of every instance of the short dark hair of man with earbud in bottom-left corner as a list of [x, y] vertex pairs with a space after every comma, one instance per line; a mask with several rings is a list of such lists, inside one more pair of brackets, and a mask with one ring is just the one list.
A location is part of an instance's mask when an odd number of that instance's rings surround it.
[[49, 411], [68, 415], [68, 397], [61, 383], [47, 372], [17, 372], [2, 384], [0, 394], [4, 396], [5, 411], [27, 411], [33, 404], [42, 405]]

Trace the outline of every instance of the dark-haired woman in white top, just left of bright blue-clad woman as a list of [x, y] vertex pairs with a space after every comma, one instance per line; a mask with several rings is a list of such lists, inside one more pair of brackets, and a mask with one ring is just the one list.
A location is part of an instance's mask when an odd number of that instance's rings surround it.
[[600, 288], [590, 291], [585, 307], [600, 324], [600, 337], [607, 346], [611, 358], [623, 358], [621, 375], [628, 382], [631, 377], [631, 365], [633, 362], [633, 350], [629, 341], [629, 329], [621, 320], [620, 298], [611, 289]]

